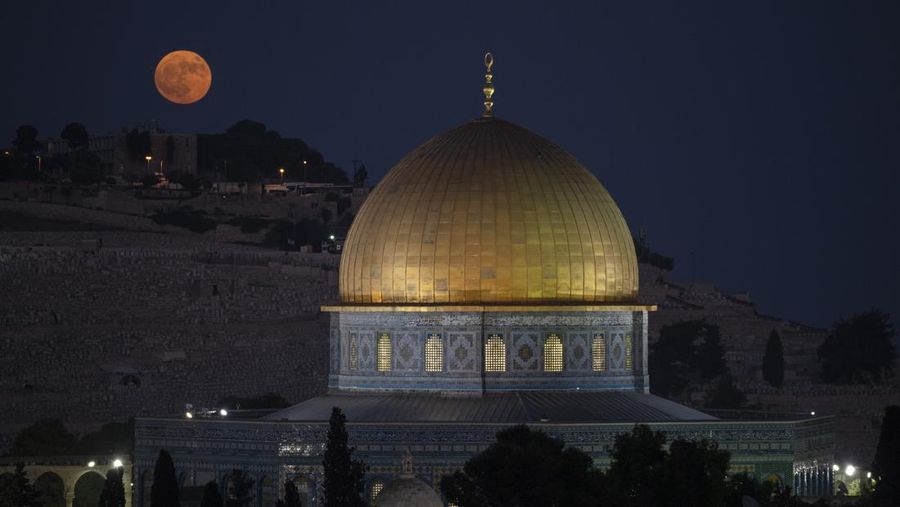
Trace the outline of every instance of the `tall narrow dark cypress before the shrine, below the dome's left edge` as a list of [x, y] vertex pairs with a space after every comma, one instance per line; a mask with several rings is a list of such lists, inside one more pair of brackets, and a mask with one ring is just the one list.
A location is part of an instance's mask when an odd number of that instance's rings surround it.
[[328, 439], [322, 460], [325, 475], [322, 498], [327, 507], [366, 504], [361, 495], [365, 465], [352, 459], [354, 448], [347, 446], [346, 422], [341, 409], [333, 407], [328, 419]]

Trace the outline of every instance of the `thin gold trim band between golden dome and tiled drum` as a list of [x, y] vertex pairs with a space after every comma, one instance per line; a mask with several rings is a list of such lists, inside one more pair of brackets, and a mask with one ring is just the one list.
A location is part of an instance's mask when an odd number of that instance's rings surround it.
[[656, 305], [325, 305], [323, 312], [655, 312]]

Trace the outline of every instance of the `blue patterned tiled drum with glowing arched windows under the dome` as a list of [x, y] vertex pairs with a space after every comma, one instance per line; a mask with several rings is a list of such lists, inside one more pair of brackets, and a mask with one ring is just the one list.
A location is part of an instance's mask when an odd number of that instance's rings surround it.
[[472, 393], [648, 388], [647, 310], [331, 314], [329, 388]]

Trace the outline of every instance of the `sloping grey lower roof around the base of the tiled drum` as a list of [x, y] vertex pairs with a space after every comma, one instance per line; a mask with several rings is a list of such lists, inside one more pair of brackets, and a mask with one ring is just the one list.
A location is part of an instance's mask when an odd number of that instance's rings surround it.
[[638, 392], [331, 393], [264, 417], [270, 421], [327, 421], [340, 407], [351, 423], [639, 423], [714, 421], [684, 405]]

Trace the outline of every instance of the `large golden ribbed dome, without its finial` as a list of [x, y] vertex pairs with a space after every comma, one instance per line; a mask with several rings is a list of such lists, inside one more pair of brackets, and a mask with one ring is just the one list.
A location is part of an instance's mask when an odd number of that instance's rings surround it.
[[638, 289], [622, 212], [559, 146], [485, 116], [391, 169], [341, 257], [345, 304], [623, 303]]

